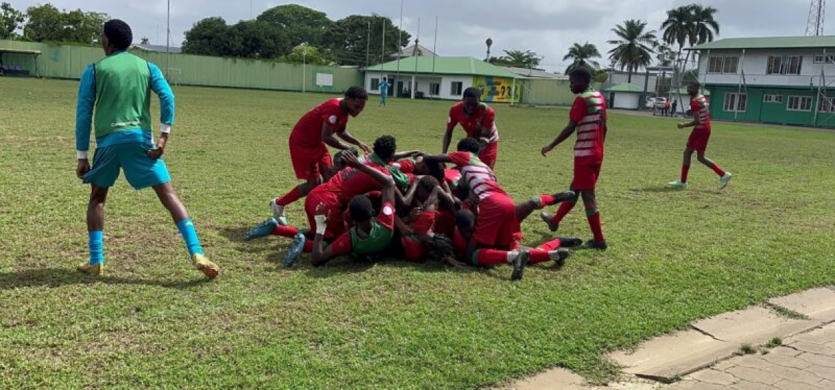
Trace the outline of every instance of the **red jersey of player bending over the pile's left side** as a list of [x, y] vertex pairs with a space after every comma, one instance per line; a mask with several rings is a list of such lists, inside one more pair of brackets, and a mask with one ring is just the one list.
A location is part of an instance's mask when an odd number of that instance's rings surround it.
[[321, 129], [327, 124], [334, 133], [345, 131], [348, 124], [348, 112], [342, 109], [342, 98], [335, 98], [313, 107], [304, 114], [290, 133], [290, 141], [306, 148], [318, 148], [321, 145]]

